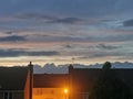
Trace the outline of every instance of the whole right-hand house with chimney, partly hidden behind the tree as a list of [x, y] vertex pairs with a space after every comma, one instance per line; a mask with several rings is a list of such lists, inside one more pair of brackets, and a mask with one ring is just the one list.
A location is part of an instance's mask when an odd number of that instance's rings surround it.
[[[112, 68], [116, 76], [133, 88], [132, 68]], [[69, 66], [70, 99], [89, 99], [90, 91], [102, 73], [101, 68], [74, 68]]]

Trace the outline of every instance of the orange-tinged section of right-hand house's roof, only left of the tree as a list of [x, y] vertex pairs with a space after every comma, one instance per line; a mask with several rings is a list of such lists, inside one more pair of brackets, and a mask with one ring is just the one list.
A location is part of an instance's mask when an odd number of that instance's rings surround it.
[[73, 68], [70, 73], [70, 88], [79, 92], [88, 91], [98, 80], [100, 74], [100, 69]]

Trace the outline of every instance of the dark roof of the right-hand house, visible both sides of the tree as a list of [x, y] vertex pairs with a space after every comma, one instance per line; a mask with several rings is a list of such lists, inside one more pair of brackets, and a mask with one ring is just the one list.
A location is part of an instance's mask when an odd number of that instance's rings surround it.
[[[133, 69], [112, 69], [116, 76], [129, 86], [133, 86]], [[102, 69], [96, 68], [72, 68], [70, 70], [71, 87], [76, 91], [89, 91], [99, 79]]]

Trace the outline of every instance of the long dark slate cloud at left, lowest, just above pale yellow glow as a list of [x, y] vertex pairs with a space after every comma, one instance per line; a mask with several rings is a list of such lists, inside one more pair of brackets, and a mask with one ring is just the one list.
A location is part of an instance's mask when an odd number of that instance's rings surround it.
[[24, 50], [0, 50], [0, 57], [17, 57], [17, 56], [53, 56], [59, 55], [59, 52], [48, 51], [24, 51]]

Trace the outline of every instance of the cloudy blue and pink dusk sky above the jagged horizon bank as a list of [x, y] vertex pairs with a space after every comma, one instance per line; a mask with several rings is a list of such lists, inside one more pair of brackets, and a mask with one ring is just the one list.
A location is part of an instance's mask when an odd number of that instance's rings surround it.
[[0, 0], [0, 65], [133, 62], [133, 0]]

